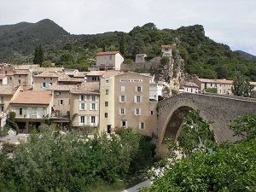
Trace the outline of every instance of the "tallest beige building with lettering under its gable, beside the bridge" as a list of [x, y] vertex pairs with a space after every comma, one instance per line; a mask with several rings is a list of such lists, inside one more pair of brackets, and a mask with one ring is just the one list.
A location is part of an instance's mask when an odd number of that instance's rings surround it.
[[151, 136], [156, 130], [157, 102], [149, 101], [149, 76], [123, 73], [101, 79], [100, 130], [116, 127]]

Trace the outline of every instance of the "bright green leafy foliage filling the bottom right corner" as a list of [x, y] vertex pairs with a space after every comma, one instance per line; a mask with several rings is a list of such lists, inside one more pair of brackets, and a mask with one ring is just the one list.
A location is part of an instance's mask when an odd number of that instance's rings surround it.
[[218, 148], [214, 154], [196, 152], [179, 160], [140, 191], [255, 191], [256, 139]]

